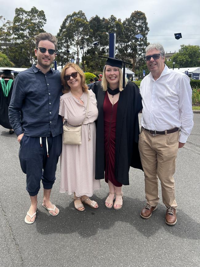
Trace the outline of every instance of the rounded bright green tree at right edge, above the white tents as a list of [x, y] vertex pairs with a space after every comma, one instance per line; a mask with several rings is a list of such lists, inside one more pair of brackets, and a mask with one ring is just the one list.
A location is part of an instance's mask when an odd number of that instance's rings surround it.
[[181, 45], [176, 54], [171, 57], [170, 62], [175, 62], [175, 67], [199, 67], [200, 66], [200, 46]]

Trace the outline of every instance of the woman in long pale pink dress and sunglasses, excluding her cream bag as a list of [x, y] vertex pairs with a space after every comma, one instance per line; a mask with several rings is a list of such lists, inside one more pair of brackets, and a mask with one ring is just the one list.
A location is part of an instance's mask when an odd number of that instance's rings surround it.
[[[74, 63], [67, 63], [61, 73], [64, 95], [60, 98], [59, 114], [68, 126], [82, 123], [81, 145], [62, 144], [60, 192], [74, 194], [74, 207], [83, 211], [84, 205], [98, 208], [89, 197], [101, 188], [95, 176], [95, 142], [98, 117], [97, 101], [93, 91], [88, 90], [84, 72]], [[89, 107], [87, 98], [89, 94]]]

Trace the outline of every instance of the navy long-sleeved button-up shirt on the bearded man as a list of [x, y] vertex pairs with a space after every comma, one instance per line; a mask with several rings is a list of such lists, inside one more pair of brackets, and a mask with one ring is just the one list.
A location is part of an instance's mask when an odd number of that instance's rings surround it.
[[10, 125], [17, 136], [46, 137], [62, 133], [58, 115], [62, 84], [60, 72], [52, 68], [43, 74], [35, 65], [20, 72], [9, 106]]

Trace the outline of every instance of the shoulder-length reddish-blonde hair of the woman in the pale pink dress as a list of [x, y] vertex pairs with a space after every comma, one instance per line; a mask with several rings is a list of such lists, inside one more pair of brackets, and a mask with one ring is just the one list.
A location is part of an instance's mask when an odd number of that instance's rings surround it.
[[66, 69], [68, 69], [70, 67], [73, 67], [80, 74], [81, 86], [82, 86], [83, 92], [88, 92], [88, 86], [86, 84], [86, 77], [85, 77], [85, 74], [82, 71], [82, 69], [75, 63], [67, 63], [61, 71], [61, 82], [62, 82], [62, 85], [64, 87], [64, 89], [62, 90], [63, 94], [68, 93], [70, 91], [70, 86], [67, 84], [67, 81], [64, 79], [65, 71], [66, 71]]

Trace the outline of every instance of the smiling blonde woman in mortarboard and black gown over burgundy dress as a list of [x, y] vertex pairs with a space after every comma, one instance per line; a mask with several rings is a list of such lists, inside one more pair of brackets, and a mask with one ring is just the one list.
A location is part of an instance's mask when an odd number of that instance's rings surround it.
[[122, 63], [107, 58], [102, 81], [92, 87], [98, 108], [95, 179], [105, 178], [109, 186], [105, 205], [114, 209], [122, 208], [122, 185], [129, 184], [130, 166], [142, 169], [138, 151], [142, 98], [135, 83], [125, 82]]

